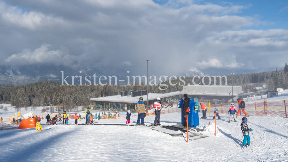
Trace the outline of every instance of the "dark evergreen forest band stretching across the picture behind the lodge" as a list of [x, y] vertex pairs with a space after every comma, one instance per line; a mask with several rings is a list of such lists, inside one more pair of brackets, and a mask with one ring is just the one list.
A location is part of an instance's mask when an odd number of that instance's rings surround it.
[[[214, 85], [214, 78], [211, 77], [210, 85]], [[193, 85], [193, 77], [181, 78], [185, 81], [185, 85]], [[202, 77], [194, 78], [194, 82], [203, 85]], [[267, 85], [268, 90], [276, 90], [276, 88], [288, 88], [288, 65], [285, 64], [284, 70], [275, 70], [262, 73], [251, 73], [241, 75], [227, 76], [228, 85], [242, 85], [242, 91], [255, 92], [255, 86]], [[204, 77], [204, 83], [209, 84], [209, 78]], [[225, 78], [222, 77], [222, 85], [225, 85]], [[171, 80], [173, 85], [170, 85], [169, 80], [157, 85], [149, 85], [149, 93], [169, 93], [183, 90], [183, 82]], [[219, 77], [216, 78], [216, 85], [219, 85]], [[164, 85], [166, 84], [166, 85]], [[176, 84], [176, 85], [174, 85]], [[164, 90], [160, 90], [164, 89]], [[121, 91], [147, 90], [147, 85], [137, 83], [137, 85], [104, 85], [104, 86], [61, 86], [58, 82], [42, 81], [27, 85], [0, 85], [0, 101], [1, 103], [11, 103], [15, 107], [28, 106], [68, 106], [75, 108], [77, 106], [86, 106], [90, 103], [90, 98], [98, 98], [105, 96], [120, 95]]]

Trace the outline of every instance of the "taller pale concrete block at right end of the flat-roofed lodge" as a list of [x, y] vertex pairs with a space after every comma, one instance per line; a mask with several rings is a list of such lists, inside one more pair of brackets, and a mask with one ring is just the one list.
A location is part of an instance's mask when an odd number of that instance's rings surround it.
[[[188, 97], [205, 100], [226, 99], [232, 102], [232, 86], [229, 85], [187, 85], [183, 86], [180, 94], [188, 94]], [[242, 93], [242, 86], [233, 86], [233, 100], [237, 101], [239, 94]]]

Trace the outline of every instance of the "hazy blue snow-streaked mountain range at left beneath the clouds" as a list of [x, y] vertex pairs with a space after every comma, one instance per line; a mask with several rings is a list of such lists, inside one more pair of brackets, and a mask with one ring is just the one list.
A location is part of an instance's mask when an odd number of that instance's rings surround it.
[[[86, 74], [91, 76], [91, 79], [89, 80], [92, 83], [93, 83], [92, 76], [95, 73], [96, 75], [98, 75], [98, 77], [105, 75], [107, 79], [109, 79], [108, 76], [110, 75], [117, 76], [117, 79], [126, 78], [126, 70], [114, 66], [103, 68], [86, 68], [86, 67], [69, 68], [65, 66], [37, 66], [37, 65], [18, 66], [18, 67], [0, 66], [0, 84], [20, 85], [46, 80], [61, 82], [62, 77], [61, 71], [64, 71], [64, 78], [67, 75], [69, 76], [82, 75], [82, 83], [85, 83]], [[79, 71], [81, 71], [82, 73], [79, 73]], [[69, 84], [71, 84], [72, 83], [71, 77], [68, 77], [66, 81]], [[98, 83], [98, 79], [96, 79], [96, 83]], [[75, 84], [79, 84], [79, 79], [75, 78]]]

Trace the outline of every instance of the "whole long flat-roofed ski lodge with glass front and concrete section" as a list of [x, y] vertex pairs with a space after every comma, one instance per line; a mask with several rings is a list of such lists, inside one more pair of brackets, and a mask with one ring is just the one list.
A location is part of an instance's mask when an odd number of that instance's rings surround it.
[[[183, 98], [184, 94], [188, 94], [188, 97], [205, 100], [222, 100], [225, 99], [228, 102], [237, 101], [238, 95], [242, 93], [242, 86], [233, 86], [233, 97], [232, 97], [232, 86], [227, 85], [186, 85], [183, 86], [183, 91], [170, 92], [165, 94], [148, 94], [148, 104], [153, 104], [157, 97], [168, 98], [169, 101], [175, 99], [179, 100]], [[147, 91], [123, 91], [121, 95], [91, 98], [94, 102], [95, 107], [104, 109], [105, 107], [120, 108], [121, 110], [134, 109], [139, 101], [139, 97], [143, 97], [143, 102], [147, 105]]]

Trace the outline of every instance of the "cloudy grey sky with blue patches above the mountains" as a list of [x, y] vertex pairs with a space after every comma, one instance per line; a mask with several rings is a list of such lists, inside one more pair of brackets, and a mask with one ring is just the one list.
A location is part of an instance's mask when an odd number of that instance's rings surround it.
[[288, 2], [0, 1], [0, 64], [117, 66], [178, 75], [196, 68], [283, 68]]

